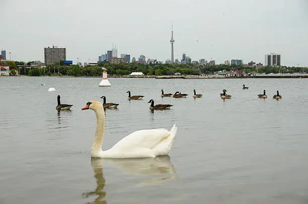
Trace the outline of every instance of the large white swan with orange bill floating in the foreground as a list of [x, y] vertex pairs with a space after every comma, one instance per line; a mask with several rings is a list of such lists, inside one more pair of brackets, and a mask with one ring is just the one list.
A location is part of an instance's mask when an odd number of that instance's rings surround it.
[[166, 129], [139, 130], [133, 132], [112, 148], [102, 151], [105, 130], [105, 112], [103, 105], [91, 100], [82, 110], [92, 109], [97, 118], [95, 139], [91, 156], [98, 158], [144, 158], [167, 155], [172, 147], [177, 132], [176, 124], [170, 131]]

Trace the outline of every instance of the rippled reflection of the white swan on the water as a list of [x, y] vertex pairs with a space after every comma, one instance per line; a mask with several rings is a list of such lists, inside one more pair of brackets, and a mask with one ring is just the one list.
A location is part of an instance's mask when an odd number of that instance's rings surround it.
[[103, 173], [103, 163], [111, 164], [121, 169], [126, 174], [135, 175], [159, 175], [155, 178], [151, 178], [148, 181], [138, 183], [138, 186], [153, 185], [167, 180], [172, 180], [176, 177], [176, 171], [171, 163], [170, 157], [160, 156], [156, 158], [140, 158], [140, 159], [102, 159], [91, 158], [91, 166], [94, 171], [94, 177], [96, 179], [96, 189], [83, 193], [83, 198], [89, 198], [90, 196], [97, 196], [94, 201], [86, 203], [107, 203], [105, 200], [106, 191], [105, 177]]

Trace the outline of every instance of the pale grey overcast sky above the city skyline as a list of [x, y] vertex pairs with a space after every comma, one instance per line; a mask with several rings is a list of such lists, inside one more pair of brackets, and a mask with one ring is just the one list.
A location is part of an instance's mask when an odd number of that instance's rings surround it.
[[[14, 61], [44, 61], [44, 47], [66, 47], [74, 63], [98, 58], [114, 43], [121, 53], [165, 61], [264, 63], [308, 66], [308, 0], [0, 0], [0, 49]], [[197, 42], [198, 41], [198, 42]]]

